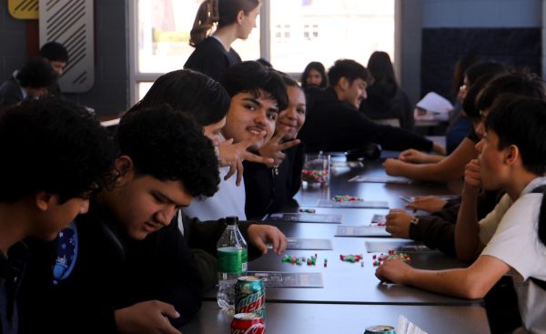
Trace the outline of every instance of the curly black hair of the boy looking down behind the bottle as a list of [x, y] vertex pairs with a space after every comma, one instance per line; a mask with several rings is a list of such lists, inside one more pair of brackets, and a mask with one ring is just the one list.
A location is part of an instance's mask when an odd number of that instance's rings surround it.
[[136, 109], [121, 118], [116, 137], [138, 175], [179, 180], [193, 197], [217, 192], [218, 159], [193, 117], [168, 105]]

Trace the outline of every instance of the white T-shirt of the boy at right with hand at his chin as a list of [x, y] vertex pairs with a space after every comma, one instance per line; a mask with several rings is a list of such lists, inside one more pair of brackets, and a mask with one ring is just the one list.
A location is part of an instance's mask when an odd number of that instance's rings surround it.
[[511, 267], [521, 320], [531, 333], [546, 333], [546, 290], [527, 280], [546, 281], [546, 247], [537, 234], [542, 194], [531, 193], [542, 185], [546, 185], [546, 177], [533, 179], [513, 203], [504, 195], [480, 220], [480, 240], [487, 245], [481, 255], [499, 258]]

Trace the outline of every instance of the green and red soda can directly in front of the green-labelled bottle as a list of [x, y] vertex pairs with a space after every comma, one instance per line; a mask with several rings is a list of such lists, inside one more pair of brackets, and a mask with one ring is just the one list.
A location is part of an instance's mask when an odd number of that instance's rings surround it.
[[266, 287], [260, 278], [243, 276], [235, 285], [235, 313], [249, 312], [266, 320]]

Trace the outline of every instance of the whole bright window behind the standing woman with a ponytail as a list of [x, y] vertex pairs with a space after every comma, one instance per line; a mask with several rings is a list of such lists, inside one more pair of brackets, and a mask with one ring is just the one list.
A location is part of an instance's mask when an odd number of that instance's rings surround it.
[[[202, 1], [128, 2], [133, 103], [158, 76], [184, 66], [193, 52], [189, 32]], [[292, 74], [301, 73], [310, 61], [329, 67], [336, 59], [352, 58], [366, 65], [376, 50], [388, 52], [394, 61], [395, 0], [262, 0], [262, 4], [258, 27], [247, 41], [233, 44], [243, 60], [262, 56]], [[260, 22], [268, 23], [261, 40]]]

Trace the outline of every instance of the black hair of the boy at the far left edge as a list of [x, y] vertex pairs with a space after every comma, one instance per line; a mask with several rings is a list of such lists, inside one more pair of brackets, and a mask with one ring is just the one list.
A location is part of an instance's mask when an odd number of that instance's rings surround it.
[[0, 117], [0, 202], [45, 191], [61, 203], [107, 186], [116, 150], [83, 106], [26, 100]]

